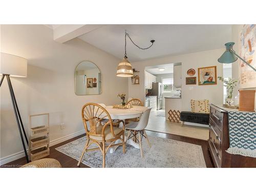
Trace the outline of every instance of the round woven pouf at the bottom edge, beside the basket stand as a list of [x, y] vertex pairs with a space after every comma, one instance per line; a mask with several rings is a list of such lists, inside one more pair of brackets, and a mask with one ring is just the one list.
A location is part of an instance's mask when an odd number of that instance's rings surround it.
[[61, 168], [61, 165], [56, 159], [45, 158], [27, 163], [21, 168]]

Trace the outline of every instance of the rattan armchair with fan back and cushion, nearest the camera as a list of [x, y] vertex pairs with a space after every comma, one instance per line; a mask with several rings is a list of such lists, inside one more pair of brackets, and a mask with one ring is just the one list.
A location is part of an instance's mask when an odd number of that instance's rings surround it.
[[[87, 103], [82, 107], [82, 121], [84, 125], [84, 129], [86, 130], [87, 141], [84, 145], [81, 157], [77, 163], [79, 166], [84, 153], [100, 150], [103, 156], [102, 167], [105, 167], [105, 155], [108, 152], [110, 147], [113, 146], [123, 146], [123, 153], [125, 154], [125, 141], [124, 141], [124, 122], [123, 120], [119, 120], [117, 122], [113, 122], [110, 114], [103, 108], [100, 104], [97, 103]], [[109, 119], [108, 122], [101, 124], [102, 119]], [[117, 125], [122, 122], [122, 129]], [[90, 124], [90, 127], [88, 127]], [[121, 140], [121, 143], [114, 144], [116, 140]], [[106, 143], [109, 143], [106, 145]], [[96, 148], [88, 148], [91, 144], [95, 143], [98, 145]]]

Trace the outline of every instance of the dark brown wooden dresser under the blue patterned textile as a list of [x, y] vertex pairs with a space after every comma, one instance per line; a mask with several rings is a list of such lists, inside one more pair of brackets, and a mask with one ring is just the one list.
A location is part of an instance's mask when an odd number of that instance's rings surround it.
[[256, 167], [256, 158], [232, 155], [229, 147], [228, 113], [210, 104], [209, 151], [215, 167]]

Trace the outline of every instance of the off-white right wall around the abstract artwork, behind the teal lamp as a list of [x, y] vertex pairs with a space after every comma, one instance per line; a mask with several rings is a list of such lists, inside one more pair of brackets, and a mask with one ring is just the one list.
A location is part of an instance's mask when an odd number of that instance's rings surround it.
[[[240, 39], [240, 33], [243, 29], [243, 25], [233, 25], [232, 26], [232, 41], [235, 43], [233, 46], [234, 51], [236, 51], [238, 54], [241, 50], [241, 39]], [[255, 53], [254, 53], [255, 54]], [[239, 63], [240, 59], [238, 59], [236, 62], [232, 63], [232, 78], [238, 79], [239, 77]], [[256, 75], [256, 72], [255, 72]], [[234, 88], [233, 91], [233, 97], [238, 94], [239, 86]], [[241, 89], [241, 90], [256, 90], [256, 88], [249, 88], [249, 89]], [[255, 110], [256, 110], [256, 97], [255, 97]]]

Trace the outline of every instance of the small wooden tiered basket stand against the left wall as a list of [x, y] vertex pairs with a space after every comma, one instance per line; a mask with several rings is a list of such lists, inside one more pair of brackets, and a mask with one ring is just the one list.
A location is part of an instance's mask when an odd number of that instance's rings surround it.
[[[31, 127], [32, 117], [47, 116], [45, 125]], [[50, 139], [49, 139], [49, 113], [30, 115], [29, 116], [29, 158], [31, 161], [41, 159], [50, 155]]]

